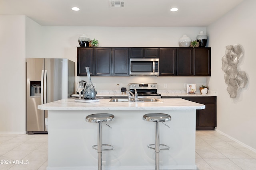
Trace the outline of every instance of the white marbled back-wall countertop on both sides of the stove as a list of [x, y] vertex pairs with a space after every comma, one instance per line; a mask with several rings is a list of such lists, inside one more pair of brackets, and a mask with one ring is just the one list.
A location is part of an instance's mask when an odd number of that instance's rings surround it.
[[[122, 94], [120, 90], [98, 90], [96, 97], [128, 97], [127, 94]], [[158, 90], [157, 93], [162, 97], [212, 97], [217, 96], [217, 92], [209, 90], [207, 94], [187, 94], [186, 90]], [[72, 94], [72, 97], [78, 97], [78, 94]]]

